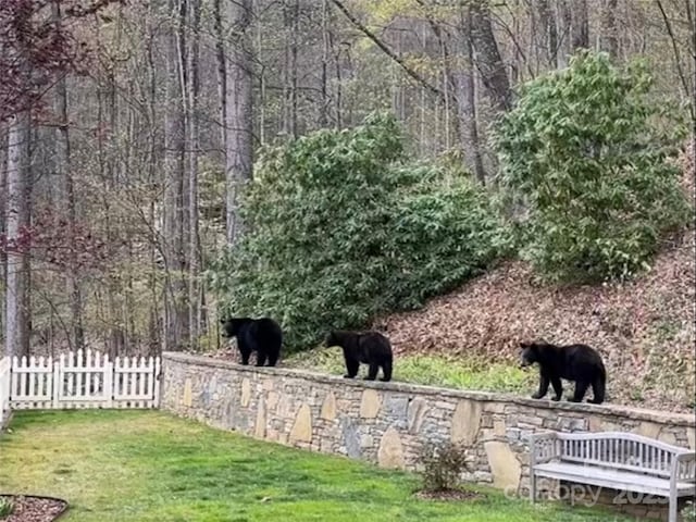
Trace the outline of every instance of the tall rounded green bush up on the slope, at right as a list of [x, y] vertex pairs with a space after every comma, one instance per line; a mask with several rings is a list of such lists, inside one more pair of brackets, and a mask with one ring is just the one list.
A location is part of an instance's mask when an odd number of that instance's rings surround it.
[[667, 161], [685, 127], [651, 83], [642, 63], [585, 51], [525, 85], [497, 128], [502, 186], [529, 208], [522, 254], [548, 278], [627, 277], [688, 220]]

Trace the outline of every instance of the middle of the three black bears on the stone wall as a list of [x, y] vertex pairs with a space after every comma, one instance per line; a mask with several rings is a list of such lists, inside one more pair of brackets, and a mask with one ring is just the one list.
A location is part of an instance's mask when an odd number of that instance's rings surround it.
[[365, 381], [374, 381], [382, 368], [380, 381], [391, 380], [391, 344], [378, 332], [345, 332], [334, 331], [326, 336], [327, 347], [339, 346], [346, 359], [346, 378], [358, 374], [360, 363], [369, 364], [370, 370]]

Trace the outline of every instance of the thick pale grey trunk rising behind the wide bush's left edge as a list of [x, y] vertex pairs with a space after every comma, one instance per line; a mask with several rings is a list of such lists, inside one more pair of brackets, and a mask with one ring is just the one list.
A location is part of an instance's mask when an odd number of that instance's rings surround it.
[[226, 110], [227, 152], [225, 165], [227, 203], [227, 243], [234, 245], [244, 234], [244, 224], [238, 213], [239, 190], [251, 179], [252, 173], [252, 84], [251, 44], [251, 0], [227, 3], [229, 23], [236, 35], [227, 64]]

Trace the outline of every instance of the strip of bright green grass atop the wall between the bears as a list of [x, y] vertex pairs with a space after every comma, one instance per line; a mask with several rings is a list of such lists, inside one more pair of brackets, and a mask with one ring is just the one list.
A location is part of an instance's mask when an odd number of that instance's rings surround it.
[[[303, 368], [335, 375], [345, 373], [339, 348], [316, 348], [294, 353], [283, 365]], [[361, 366], [366, 372], [366, 365]], [[537, 371], [518, 365], [486, 361], [474, 357], [400, 356], [394, 362], [394, 381], [455, 389], [526, 393], [536, 387]]]

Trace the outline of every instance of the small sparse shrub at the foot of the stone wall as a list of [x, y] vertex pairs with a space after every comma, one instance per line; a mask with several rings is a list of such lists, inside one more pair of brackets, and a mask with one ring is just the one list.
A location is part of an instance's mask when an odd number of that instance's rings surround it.
[[465, 447], [451, 442], [423, 445], [418, 463], [422, 467], [423, 488], [427, 492], [455, 489], [461, 474], [469, 471]]

